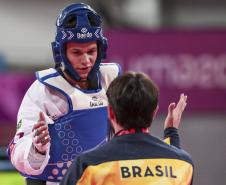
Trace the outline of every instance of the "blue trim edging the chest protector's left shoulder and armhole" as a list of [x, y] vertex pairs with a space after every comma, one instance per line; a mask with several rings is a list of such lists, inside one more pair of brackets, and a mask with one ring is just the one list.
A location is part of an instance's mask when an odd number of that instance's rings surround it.
[[44, 76], [44, 77], [42, 77], [42, 78], [40, 78], [40, 77], [39, 77], [39, 73], [36, 72], [36, 73], [35, 73], [35, 76], [36, 76], [36, 78], [38, 79], [38, 81], [39, 81], [40, 83], [42, 83], [42, 84], [44, 84], [44, 85], [46, 85], [46, 86], [48, 86], [48, 87], [51, 87], [51, 88], [57, 90], [58, 92], [60, 92], [61, 94], [63, 94], [63, 95], [66, 97], [66, 99], [67, 99], [67, 101], [68, 101], [68, 106], [69, 106], [69, 111], [68, 111], [67, 114], [69, 114], [70, 112], [73, 111], [73, 105], [72, 105], [72, 100], [71, 100], [70, 96], [69, 96], [67, 93], [65, 93], [63, 90], [61, 90], [61, 89], [59, 89], [59, 88], [57, 88], [57, 87], [55, 87], [55, 86], [52, 86], [52, 85], [48, 84], [47, 82], [44, 82], [45, 80], [47, 80], [47, 79], [49, 79], [49, 78], [53, 78], [53, 77], [60, 76], [60, 74], [59, 74], [58, 72], [52, 73], [52, 74], [49, 74], [49, 75], [46, 75], [46, 76]]

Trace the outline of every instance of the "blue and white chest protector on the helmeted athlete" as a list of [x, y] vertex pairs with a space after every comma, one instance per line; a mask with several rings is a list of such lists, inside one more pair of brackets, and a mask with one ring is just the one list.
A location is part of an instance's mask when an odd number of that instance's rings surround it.
[[72, 88], [54, 69], [49, 70], [48, 75], [38, 78], [43, 84], [65, 95], [69, 113], [48, 125], [51, 137], [50, 160], [43, 173], [36, 176], [23, 175], [59, 182], [77, 155], [106, 142], [107, 98], [104, 88], [91, 92]]

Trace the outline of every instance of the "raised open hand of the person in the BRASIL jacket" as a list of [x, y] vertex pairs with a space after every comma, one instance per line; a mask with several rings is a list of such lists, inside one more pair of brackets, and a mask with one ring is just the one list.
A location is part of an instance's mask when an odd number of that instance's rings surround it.
[[165, 120], [164, 128], [174, 127], [178, 128], [181, 122], [181, 116], [187, 105], [187, 96], [183, 93], [180, 95], [180, 100], [176, 103], [170, 103], [168, 107], [168, 114]]

